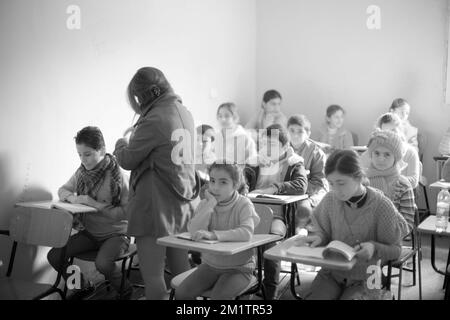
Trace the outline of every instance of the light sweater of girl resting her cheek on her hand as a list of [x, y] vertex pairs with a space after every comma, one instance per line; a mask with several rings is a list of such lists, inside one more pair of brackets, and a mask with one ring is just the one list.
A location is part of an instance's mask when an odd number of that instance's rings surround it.
[[[218, 203], [215, 207], [202, 200], [188, 224], [188, 230], [191, 234], [198, 230], [212, 231], [219, 241], [249, 241], [259, 220], [253, 203], [234, 192], [229, 201]], [[202, 261], [217, 269], [252, 272], [255, 268], [253, 251], [250, 249], [232, 256], [203, 253]]]

